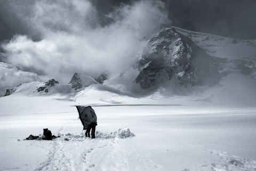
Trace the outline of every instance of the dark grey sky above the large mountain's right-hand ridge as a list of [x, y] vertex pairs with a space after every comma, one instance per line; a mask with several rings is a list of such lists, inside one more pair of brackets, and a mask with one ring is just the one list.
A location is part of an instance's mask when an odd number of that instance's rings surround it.
[[256, 39], [254, 0], [167, 0], [172, 25], [215, 35]]

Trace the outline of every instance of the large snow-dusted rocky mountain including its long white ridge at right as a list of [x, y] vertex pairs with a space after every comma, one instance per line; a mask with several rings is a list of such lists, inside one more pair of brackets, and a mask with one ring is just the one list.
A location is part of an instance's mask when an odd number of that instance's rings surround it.
[[230, 72], [255, 78], [255, 40], [237, 40], [163, 25], [142, 52], [135, 82], [141, 89], [166, 83], [215, 86]]

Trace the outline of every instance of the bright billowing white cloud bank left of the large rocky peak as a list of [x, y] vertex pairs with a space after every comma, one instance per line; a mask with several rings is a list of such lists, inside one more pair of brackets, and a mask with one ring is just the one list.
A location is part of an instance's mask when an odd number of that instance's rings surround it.
[[120, 73], [133, 64], [149, 31], [171, 23], [161, 1], [116, 7], [105, 15], [111, 20], [107, 26], [101, 25], [99, 12], [90, 1], [22, 2], [9, 5], [31, 34], [15, 35], [1, 45], [1, 61], [13, 66], [11, 71], [6, 67], [1, 71], [1, 87], [14, 84], [3, 77], [6, 72], [27, 74], [24, 80], [16, 79], [17, 84], [51, 78], [67, 84], [75, 72], [93, 77], [103, 71]]

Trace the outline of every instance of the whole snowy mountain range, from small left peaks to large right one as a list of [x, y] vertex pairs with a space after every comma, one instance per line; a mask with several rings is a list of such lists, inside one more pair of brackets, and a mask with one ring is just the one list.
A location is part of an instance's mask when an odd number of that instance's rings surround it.
[[[31, 84], [37, 85], [30, 95], [76, 94], [93, 87], [97, 91], [133, 97], [158, 92], [171, 96], [210, 95], [210, 99], [221, 97], [230, 103], [232, 98], [241, 98], [249, 104], [254, 103], [256, 40], [226, 38], [161, 25], [151, 36], [145, 37], [145, 41], [147, 44], [137, 60], [116, 74], [102, 72], [93, 78], [75, 73], [69, 84], [58, 84], [56, 80], [33, 82]], [[19, 85], [7, 89], [5, 95], [22, 91]]]

